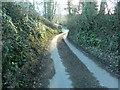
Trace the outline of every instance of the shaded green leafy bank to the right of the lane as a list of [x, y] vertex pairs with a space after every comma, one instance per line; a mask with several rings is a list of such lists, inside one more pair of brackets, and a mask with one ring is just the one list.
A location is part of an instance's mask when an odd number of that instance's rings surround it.
[[118, 73], [117, 68], [120, 69], [117, 63], [120, 59], [119, 2], [114, 14], [104, 14], [104, 10], [100, 10], [98, 14], [90, 14], [91, 7], [89, 7], [88, 5], [83, 8], [87, 13], [83, 10], [82, 14], [68, 15], [68, 38], [95, 56], [109, 62], [108, 67], [112, 66]]

